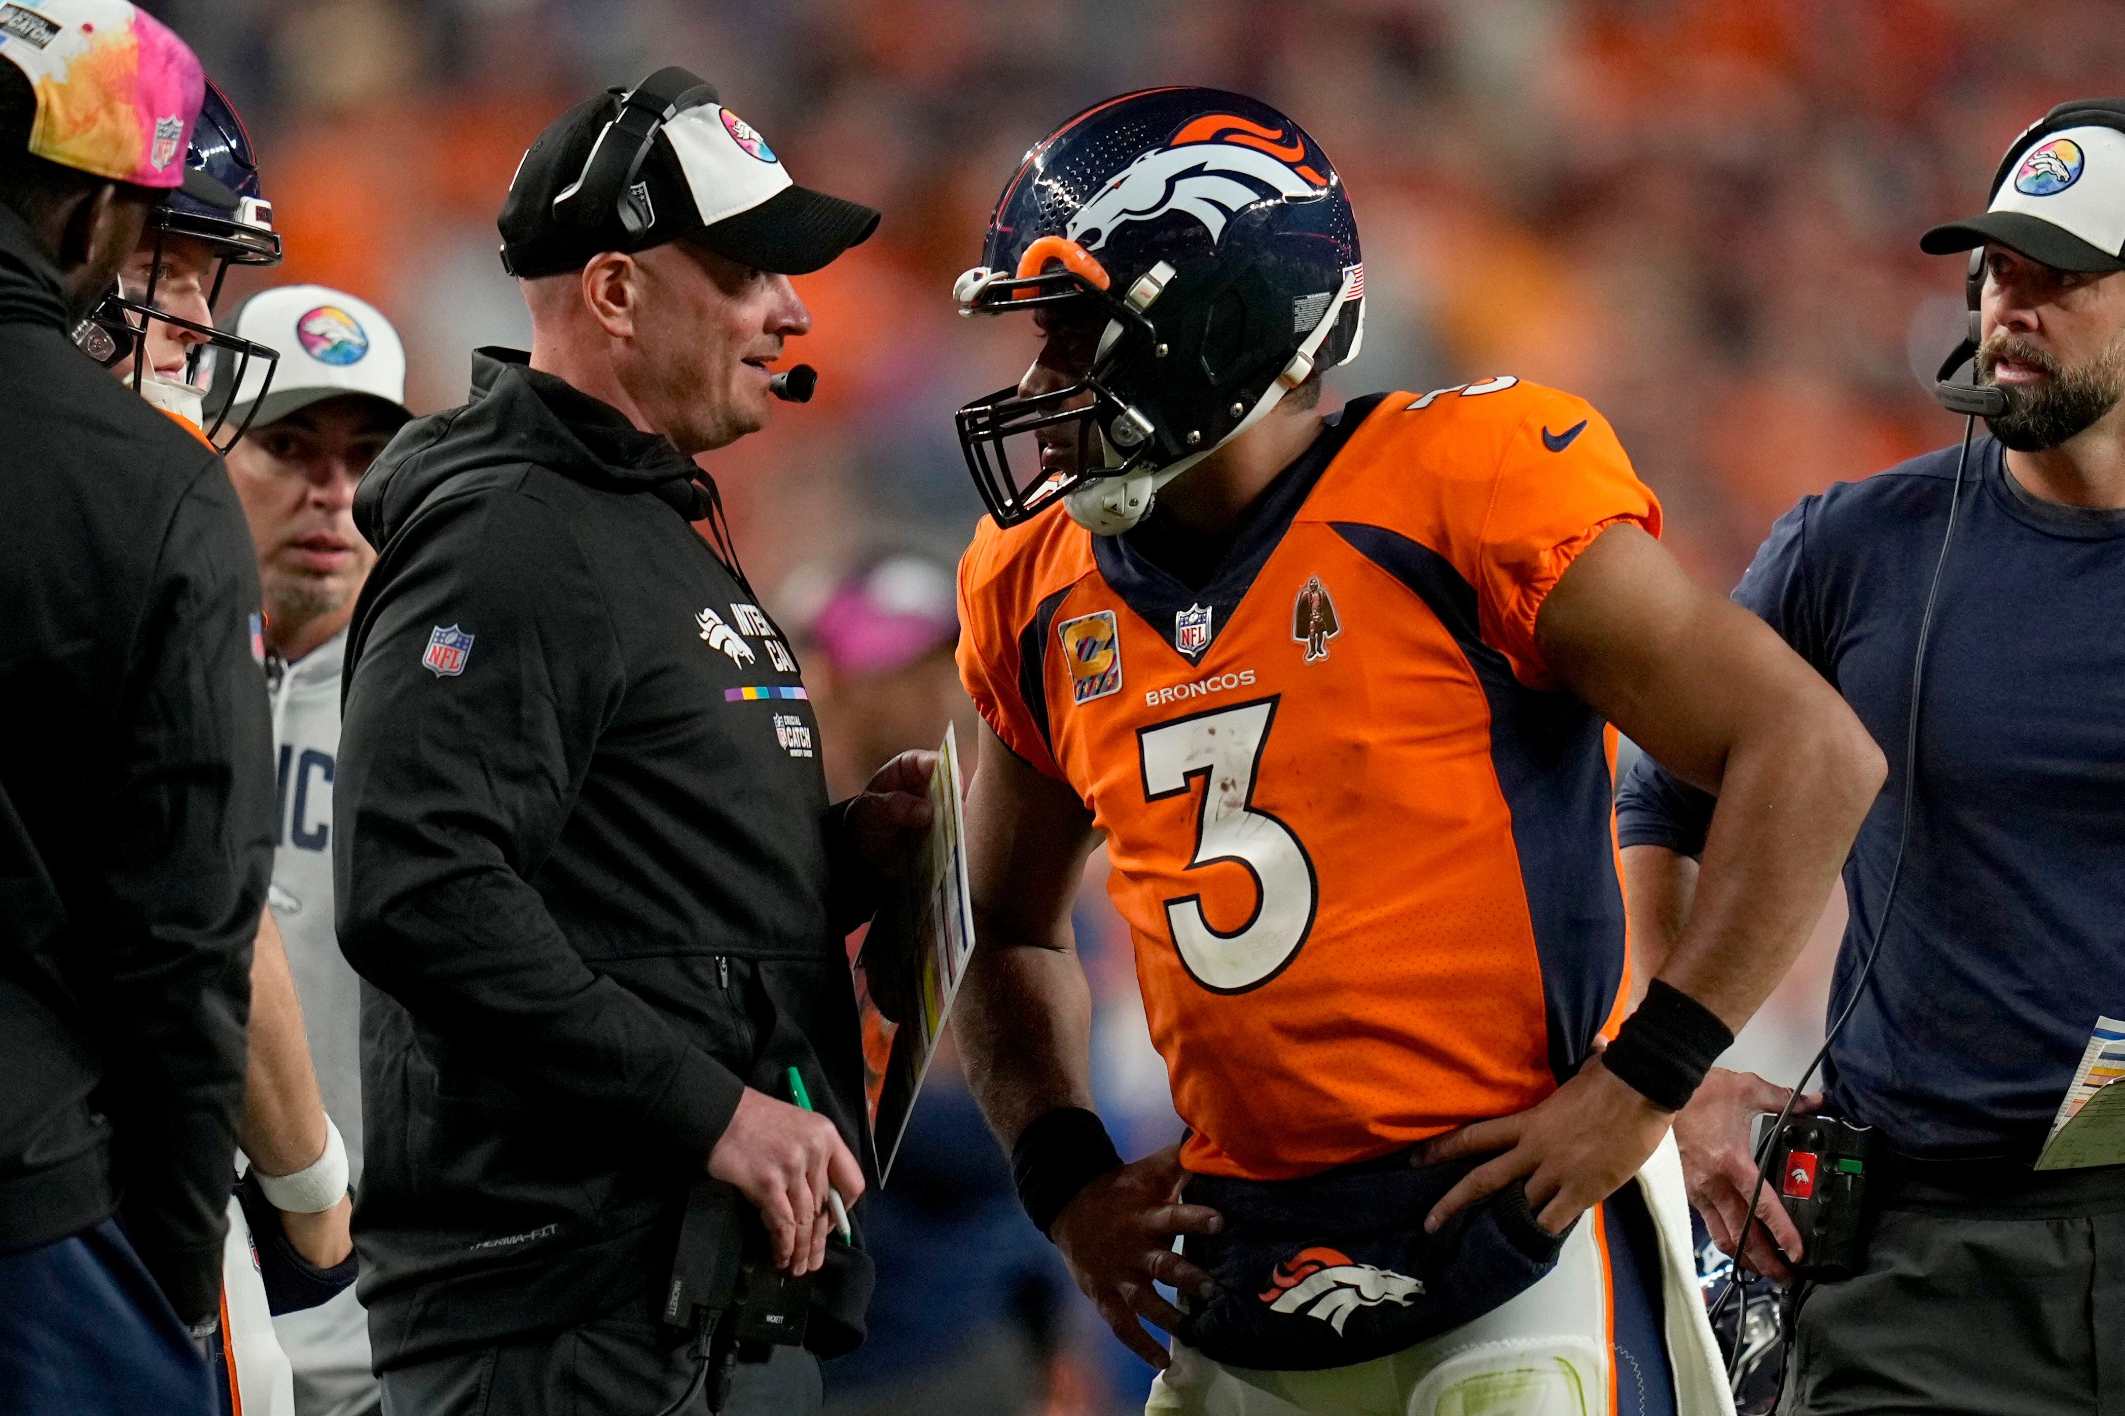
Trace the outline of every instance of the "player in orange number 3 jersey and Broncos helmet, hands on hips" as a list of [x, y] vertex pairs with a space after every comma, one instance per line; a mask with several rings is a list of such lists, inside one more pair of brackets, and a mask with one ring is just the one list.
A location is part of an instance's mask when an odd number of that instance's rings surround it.
[[[1039, 340], [960, 412], [992, 518], [956, 1036], [1028, 1214], [1164, 1369], [1150, 1410], [1730, 1410], [1668, 1125], [1821, 911], [1872, 741], [1662, 550], [1585, 401], [1320, 416], [1358, 231], [1266, 104], [1077, 115], [956, 295]], [[1721, 788], [1636, 1013], [1609, 722]], [[1128, 1165], [1069, 934], [1096, 836], [1190, 1125]]]

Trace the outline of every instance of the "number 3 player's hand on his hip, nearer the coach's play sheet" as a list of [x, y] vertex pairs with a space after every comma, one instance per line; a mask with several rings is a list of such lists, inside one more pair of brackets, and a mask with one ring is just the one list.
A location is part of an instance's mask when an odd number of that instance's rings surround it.
[[1224, 1227], [1218, 1210], [1179, 1204], [1186, 1180], [1182, 1149], [1167, 1146], [1086, 1185], [1048, 1227], [1069, 1276], [1114, 1335], [1160, 1371], [1171, 1359], [1137, 1318], [1173, 1331], [1182, 1310], [1158, 1297], [1152, 1282], [1201, 1297], [1218, 1291], [1209, 1274], [1173, 1253], [1175, 1233], [1218, 1233]]

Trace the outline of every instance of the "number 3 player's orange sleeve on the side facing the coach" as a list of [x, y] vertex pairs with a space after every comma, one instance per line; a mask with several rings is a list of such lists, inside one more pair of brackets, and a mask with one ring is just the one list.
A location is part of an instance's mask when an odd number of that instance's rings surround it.
[[1003, 745], [1062, 779], [1048, 745], [1046, 633], [1024, 565], [1005, 533], [982, 518], [958, 560], [958, 677]]

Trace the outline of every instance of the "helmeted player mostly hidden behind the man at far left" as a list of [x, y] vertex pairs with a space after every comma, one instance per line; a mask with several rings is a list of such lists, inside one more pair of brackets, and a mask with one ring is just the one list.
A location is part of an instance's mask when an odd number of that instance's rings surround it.
[[[185, 163], [234, 191], [236, 210], [215, 210], [178, 193], [149, 212], [115, 291], [74, 340], [149, 403], [225, 452], [204, 422], [204, 397], [215, 378], [210, 350], [227, 350], [227, 374], [246, 374], [251, 386], [270, 382], [276, 355], [217, 331], [212, 304], [232, 263], [278, 263], [280, 238], [259, 191], [251, 136], [212, 81]], [[217, 416], [212, 427], [225, 422]], [[232, 427], [240, 431], [242, 420]], [[264, 658], [264, 639], [255, 652]], [[293, 1371], [272, 1318], [325, 1303], [353, 1284], [353, 1199], [346, 1149], [319, 1095], [295, 979], [270, 902], [251, 955], [244, 1036], [249, 1064], [236, 1144], [246, 1170], [230, 1197], [223, 1346], [215, 1378], [221, 1408], [232, 1416], [295, 1416]]]

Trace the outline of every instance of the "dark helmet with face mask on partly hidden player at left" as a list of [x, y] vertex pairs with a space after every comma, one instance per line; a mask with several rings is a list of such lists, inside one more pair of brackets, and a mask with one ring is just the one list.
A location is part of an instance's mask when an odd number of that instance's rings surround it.
[[[130, 282], [121, 276], [89, 318], [74, 329], [74, 342], [104, 367], [117, 367], [125, 359], [132, 359], [134, 393], [147, 397], [157, 408], [168, 408], [200, 425], [204, 397], [215, 378], [212, 359], [217, 355], [232, 365], [230, 378], [236, 382], [242, 380], [253, 359], [264, 359], [268, 363], [268, 384], [280, 355], [264, 344], [238, 340], [212, 325], [202, 325], [157, 308], [155, 287], [164, 274], [164, 244], [170, 236], [185, 236], [204, 242], [215, 253], [215, 276], [206, 295], [206, 308], [212, 312], [230, 265], [278, 265], [280, 236], [272, 229], [272, 202], [266, 200], [259, 187], [259, 166], [251, 146], [251, 134], [236, 115], [236, 106], [230, 104], [227, 93], [212, 81], [206, 83], [206, 93], [200, 102], [200, 121], [193, 125], [191, 149], [185, 153], [185, 161], [202, 168], [236, 193], [236, 210], [217, 210], [198, 197], [172, 191], [147, 219], [144, 238], [153, 242], [153, 261], [147, 267], [147, 280], [134, 282], [136, 289], [128, 289]], [[204, 335], [204, 342], [187, 350], [183, 378], [168, 378], [151, 367], [147, 335], [155, 323]], [[223, 403], [223, 416], [217, 416], [212, 427], [202, 429], [208, 442], [221, 452], [227, 452], [244, 433], [238, 427], [227, 437], [217, 437], [223, 431], [225, 408]]]

